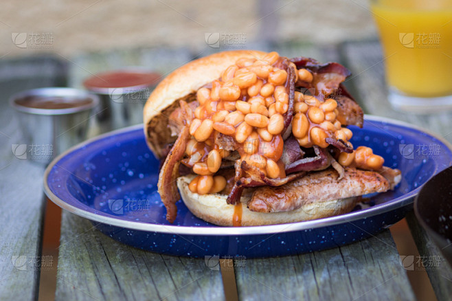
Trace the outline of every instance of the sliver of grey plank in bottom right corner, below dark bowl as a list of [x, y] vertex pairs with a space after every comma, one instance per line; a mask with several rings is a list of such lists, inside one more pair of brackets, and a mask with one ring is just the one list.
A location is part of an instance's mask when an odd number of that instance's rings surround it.
[[[440, 258], [438, 265], [432, 267], [425, 267], [427, 274], [429, 275], [431, 286], [436, 293], [436, 298], [439, 301], [452, 299], [452, 269], [447, 261], [442, 257], [440, 249], [433, 243], [431, 237], [420, 226], [416, 219], [414, 212], [410, 212], [407, 215], [407, 222], [411, 235], [413, 235], [416, 246], [420, 256], [426, 256], [426, 263], [429, 258]], [[452, 247], [452, 246], [449, 246]], [[418, 258], [415, 259], [415, 263]], [[417, 267], [417, 265], [416, 265]]]

